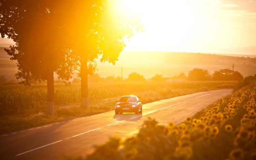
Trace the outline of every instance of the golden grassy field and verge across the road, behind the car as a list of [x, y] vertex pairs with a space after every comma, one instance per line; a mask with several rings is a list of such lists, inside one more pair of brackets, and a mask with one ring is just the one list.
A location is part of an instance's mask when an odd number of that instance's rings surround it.
[[55, 115], [46, 115], [46, 84], [0, 86], [0, 134], [114, 110], [122, 95], [142, 103], [222, 88], [237, 82], [97, 82], [89, 83], [89, 109], [81, 108], [79, 83], [55, 84]]

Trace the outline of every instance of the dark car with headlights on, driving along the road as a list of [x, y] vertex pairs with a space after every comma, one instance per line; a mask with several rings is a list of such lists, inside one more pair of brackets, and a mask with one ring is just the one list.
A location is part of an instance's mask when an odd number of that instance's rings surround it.
[[122, 96], [115, 104], [115, 114], [142, 113], [142, 103], [137, 96]]

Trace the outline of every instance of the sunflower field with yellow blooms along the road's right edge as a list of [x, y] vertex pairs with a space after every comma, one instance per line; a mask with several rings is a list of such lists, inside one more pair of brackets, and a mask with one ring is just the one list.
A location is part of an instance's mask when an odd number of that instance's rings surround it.
[[179, 125], [148, 119], [134, 137], [111, 138], [87, 159], [256, 159], [255, 98], [253, 83]]

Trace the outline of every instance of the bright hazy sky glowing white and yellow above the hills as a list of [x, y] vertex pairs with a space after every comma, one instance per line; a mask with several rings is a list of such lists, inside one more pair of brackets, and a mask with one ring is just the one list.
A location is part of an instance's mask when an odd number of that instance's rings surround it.
[[[122, 0], [121, 0], [122, 1]], [[127, 51], [223, 52], [256, 46], [256, 0], [123, 0], [142, 14], [144, 33]], [[7, 38], [1, 43], [13, 43]]]

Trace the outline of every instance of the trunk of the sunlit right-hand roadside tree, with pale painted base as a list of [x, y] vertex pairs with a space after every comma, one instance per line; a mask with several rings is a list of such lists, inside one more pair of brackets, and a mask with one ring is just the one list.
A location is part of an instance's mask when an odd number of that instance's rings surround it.
[[89, 99], [88, 99], [88, 68], [87, 68], [87, 59], [81, 59], [81, 96], [82, 103], [81, 107], [88, 108], [89, 107]]

